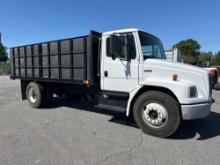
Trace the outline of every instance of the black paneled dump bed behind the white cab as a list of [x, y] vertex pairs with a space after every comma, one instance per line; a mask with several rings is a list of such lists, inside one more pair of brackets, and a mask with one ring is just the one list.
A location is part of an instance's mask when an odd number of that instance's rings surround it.
[[99, 82], [99, 38], [88, 36], [19, 46], [10, 49], [11, 78], [36, 81]]

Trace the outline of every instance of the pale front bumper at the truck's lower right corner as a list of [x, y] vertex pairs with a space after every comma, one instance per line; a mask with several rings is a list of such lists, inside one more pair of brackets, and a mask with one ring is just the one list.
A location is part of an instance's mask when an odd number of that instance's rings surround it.
[[211, 102], [201, 104], [181, 105], [183, 120], [204, 118], [209, 115]]

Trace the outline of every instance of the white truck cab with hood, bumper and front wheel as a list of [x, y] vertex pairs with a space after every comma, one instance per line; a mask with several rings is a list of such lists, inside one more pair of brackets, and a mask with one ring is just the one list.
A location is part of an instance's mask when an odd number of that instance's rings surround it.
[[[206, 117], [212, 101], [206, 70], [166, 61], [160, 39], [138, 29], [103, 33], [101, 89], [127, 93], [126, 115], [133, 113], [139, 127], [150, 134], [170, 124], [170, 116], [176, 116], [173, 127], [180, 119]], [[164, 135], [158, 131], [157, 136]]]

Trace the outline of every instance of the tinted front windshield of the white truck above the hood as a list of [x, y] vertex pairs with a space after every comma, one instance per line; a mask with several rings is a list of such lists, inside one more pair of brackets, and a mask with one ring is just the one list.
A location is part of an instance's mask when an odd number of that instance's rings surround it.
[[163, 46], [158, 38], [141, 31], [139, 31], [139, 38], [144, 60], [148, 58], [165, 59]]

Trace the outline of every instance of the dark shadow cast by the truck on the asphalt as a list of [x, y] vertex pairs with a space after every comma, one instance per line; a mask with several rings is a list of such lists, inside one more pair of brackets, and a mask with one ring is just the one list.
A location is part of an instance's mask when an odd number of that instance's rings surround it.
[[[94, 107], [93, 101], [69, 100], [65, 97], [55, 98], [54, 102], [42, 110], [50, 110], [57, 107], [70, 107], [76, 110], [89, 111], [112, 116], [110, 122], [138, 128], [133, 118], [126, 117], [124, 113], [118, 113], [107, 109]], [[210, 112], [204, 119], [182, 121], [179, 129], [168, 139], [191, 139], [205, 140], [220, 135], [220, 113]]]

